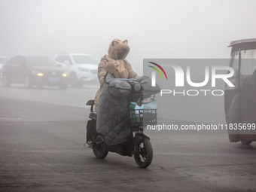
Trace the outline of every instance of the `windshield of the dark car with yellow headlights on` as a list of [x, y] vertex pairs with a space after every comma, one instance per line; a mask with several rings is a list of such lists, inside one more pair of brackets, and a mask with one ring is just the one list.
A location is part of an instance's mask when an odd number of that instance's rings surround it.
[[53, 59], [37, 56], [26, 57], [26, 64], [28, 66], [56, 66], [56, 63], [53, 61]]

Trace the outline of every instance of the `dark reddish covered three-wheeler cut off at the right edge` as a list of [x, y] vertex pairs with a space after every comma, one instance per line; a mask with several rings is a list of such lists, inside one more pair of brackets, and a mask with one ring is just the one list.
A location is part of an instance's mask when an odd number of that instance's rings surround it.
[[256, 38], [232, 41], [230, 66], [234, 88], [224, 95], [230, 142], [249, 145], [256, 141]]

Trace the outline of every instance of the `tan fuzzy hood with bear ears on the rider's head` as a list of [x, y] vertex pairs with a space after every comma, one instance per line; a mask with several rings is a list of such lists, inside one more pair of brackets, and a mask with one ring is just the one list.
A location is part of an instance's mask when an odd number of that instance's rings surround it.
[[115, 38], [108, 48], [108, 56], [114, 60], [125, 59], [130, 51], [128, 46], [128, 40], [121, 41], [120, 39]]

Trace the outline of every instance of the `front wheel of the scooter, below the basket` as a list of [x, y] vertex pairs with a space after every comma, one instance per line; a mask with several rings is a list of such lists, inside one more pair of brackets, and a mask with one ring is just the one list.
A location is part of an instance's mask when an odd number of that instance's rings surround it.
[[142, 141], [139, 142], [136, 148], [137, 150], [134, 154], [134, 159], [136, 160], [136, 163], [141, 168], [148, 167], [153, 159], [153, 148], [151, 142], [148, 138], [142, 139]]

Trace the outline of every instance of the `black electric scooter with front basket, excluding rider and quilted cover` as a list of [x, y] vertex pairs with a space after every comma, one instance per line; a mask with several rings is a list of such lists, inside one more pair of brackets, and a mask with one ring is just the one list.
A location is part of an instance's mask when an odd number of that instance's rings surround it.
[[[141, 84], [131, 79], [127, 79], [126, 82], [132, 87], [128, 96], [130, 105], [132, 102], [142, 102], [146, 96], [143, 96]], [[151, 95], [151, 98], [153, 97], [154, 95]], [[87, 101], [86, 105], [90, 105], [90, 120], [87, 121], [86, 143], [93, 149], [93, 153], [97, 158], [103, 159], [108, 155], [108, 152], [114, 152], [123, 156], [134, 157], [136, 163], [141, 168], [146, 168], [151, 164], [153, 148], [150, 138], [143, 133], [145, 129], [143, 125], [145, 123], [151, 125], [157, 123], [157, 108], [136, 109], [127, 106], [127, 110], [130, 111], [130, 139], [117, 145], [107, 145], [104, 136], [96, 131], [97, 114], [93, 111], [94, 100]], [[147, 122], [145, 122], [146, 120]]]

